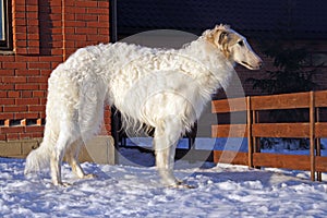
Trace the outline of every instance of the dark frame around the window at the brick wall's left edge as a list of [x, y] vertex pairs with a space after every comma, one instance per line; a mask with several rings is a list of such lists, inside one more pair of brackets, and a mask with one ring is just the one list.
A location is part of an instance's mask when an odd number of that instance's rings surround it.
[[0, 0], [3, 7], [3, 28], [4, 39], [0, 39], [0, 50], [12, 50], [12, 17], [11, 17], [11, 0]]

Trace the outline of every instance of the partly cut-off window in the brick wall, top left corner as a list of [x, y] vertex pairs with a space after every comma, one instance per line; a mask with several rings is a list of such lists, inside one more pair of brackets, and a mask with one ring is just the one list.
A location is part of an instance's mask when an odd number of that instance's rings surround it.
[[0, 0], [0, 50], [9, 50], [11, 44], [11, 0]]

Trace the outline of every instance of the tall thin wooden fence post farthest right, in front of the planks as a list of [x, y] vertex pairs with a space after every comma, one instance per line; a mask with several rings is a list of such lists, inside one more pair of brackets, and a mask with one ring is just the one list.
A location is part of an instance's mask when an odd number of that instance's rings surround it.
[[310, 164], [311, 180], [315, 181], [315, 96], [313, 90], [310, 92]]

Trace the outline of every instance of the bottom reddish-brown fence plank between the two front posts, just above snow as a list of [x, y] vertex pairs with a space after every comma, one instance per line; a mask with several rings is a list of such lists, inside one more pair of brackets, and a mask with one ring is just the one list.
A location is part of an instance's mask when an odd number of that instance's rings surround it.
[[310, 156], [254, 153], [253, 165], [261, 167], [284, 168], [292, 170], [310, 170]]

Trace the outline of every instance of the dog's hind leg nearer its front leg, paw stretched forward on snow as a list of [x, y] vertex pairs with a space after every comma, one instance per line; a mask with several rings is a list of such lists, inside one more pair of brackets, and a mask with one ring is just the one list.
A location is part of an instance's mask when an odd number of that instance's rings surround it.
[[72, 171], [81, 179], [96, 178], [95, 174], [86, 174], [80, 165], [78, 155], [82, 146], [83, 141], [80, 138], [75, 143], [73, 143], [73, 145], [68, 150], [66, 158], [72, 167]]

